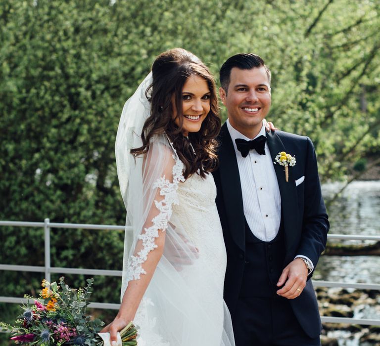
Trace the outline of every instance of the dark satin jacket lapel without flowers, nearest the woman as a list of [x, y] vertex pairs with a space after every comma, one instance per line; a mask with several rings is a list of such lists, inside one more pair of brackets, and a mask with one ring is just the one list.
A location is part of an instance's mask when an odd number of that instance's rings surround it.
[[230, 132], [225, 124], [220, 131], [221, 145], [218, 151], [219, 172], [228, 226], [232, 238], [238, 247], [245, 252], [245, 223], [243, 198], [241, 195], [238, 162]]

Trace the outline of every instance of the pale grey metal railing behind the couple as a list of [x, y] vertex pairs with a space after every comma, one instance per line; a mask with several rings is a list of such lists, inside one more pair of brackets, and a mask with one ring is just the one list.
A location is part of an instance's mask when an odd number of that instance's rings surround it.
[[[24, 222], [24, 221], [0, 221], [0, 226], [16, 226], [16, 227], [38, 227], [44, 228], [45, 242], [45, 266], [33, 265], [13, 265], [0, 264], [0, 270], [15, 270], [28, 272], [45, 273], [45, 278], [50, 281], [51, 273], [66, 273], [66, 274], [84, 274], [84, 275], [105, 275], [105, 276], [121, 276], [121, 270], [103, 270], [103, 269], [86, 269], [86, 268], [62, 268], [52, 267], [50, 263], [50, 229], [51, 228], [75, 228], [75, 229], [97, 229], [97, 230], [124, 230], [124, 226], [115, 225], [97, 225], [97, 224], [82, 224], [82, 223], [56, 223], [50, 222], [48, 218], [44, 222]], [[130, 227], [127, 230], [132, 231]], [[380, 236], [365, 236], [365, 235], [347, 235], [347, 234], [329, 234], [329, 239], [342, 240], [374, 240], [380, 241]], [[377, 290], [380, 291], [380, 284], [363, 284], [363, 283], [345, 283], [336, 281], [313, 280], [314, 287], [337, 287], [337, 288], [354, 288], [362, 290]], [[27, 300], [16, 297], [0, 297], [0, 303], [24, 303]], [[89, 307], [99, 309], [119, 309], [120, 304], [115, 303], [90, 303]], [[378, 319], [357, 319], [348, 317], [328, 317], [321, 316], [323, 323], [348, 323], [380, 326]]]

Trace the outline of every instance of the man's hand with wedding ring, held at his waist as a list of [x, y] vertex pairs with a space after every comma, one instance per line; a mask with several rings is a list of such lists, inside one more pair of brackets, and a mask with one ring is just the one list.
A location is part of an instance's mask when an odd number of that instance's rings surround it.
[[302, 259], [292, 260], [280, 276], [277, 286], [285, 285], [277, 291], [277, 294], [287, 299], [297, 298], [306, 285], [307, 274], [308, 270]]

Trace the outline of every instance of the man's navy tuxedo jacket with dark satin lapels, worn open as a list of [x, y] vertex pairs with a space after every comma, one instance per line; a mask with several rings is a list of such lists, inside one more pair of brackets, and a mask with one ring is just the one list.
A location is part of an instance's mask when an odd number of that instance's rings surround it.
[[[279, 130], [267, 133], [266, 136], [273, 161], [281, 151], [296, 158], [295, 166], [289, 167], [287, 182], [284, 167], [274, 165], [285, 228], [284, 267], [296, 255], [307, 256], [316, 266], [326, 246], [329, 221], [322, 198], [313, 143], [308, 137]], [[238, 163], [226, 124], [222, 126], [218, 141], [219, 168], [213, 175], [217, 187], [216, 204], [227, 250], [224, 299], [234, 319], [244, 270], [245, 223]], [[304, 181], [296, 186], [295, 180], [302, 176]], [[289, 302], [306, 334], [315, 338], [320, 334], [322, 326], [310, 276], [301, 295]]]

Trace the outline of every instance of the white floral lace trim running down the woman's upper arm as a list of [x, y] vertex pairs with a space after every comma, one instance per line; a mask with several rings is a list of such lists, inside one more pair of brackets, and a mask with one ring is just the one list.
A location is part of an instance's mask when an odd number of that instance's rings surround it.
[[159, 210], [159, 214], [153, 217], [153, 225], [144, 228], [145, 233], [139, 235], [139, 240], [142, 240], [142, 250], [140, 250], [136, 256], [131, 256], [128, 260], [128, 274], [127, 282], [131, 280], [140, 279], [141, 274], [146, 274], [142, 268], [142, 263], [146, 261], [150, 251], [154, 250], [157, 245], [154, 243], [155, 238], [158, 237], [158, 231], [165, 231], [170, 217], [172, 216], [172, 205], [178, 204], [177, 189], [180, 181], [185, 181], [183, 176], [184, 164], [177, 156], [176, 150], [173, 148], [173, 144], [170, 143], [174, 150], [173, 159], [175, 164], [172, 169], [173, 182], [166, 179], [165, 175], [157, 179], [152, 188], [158, 188], [160, 195], [165, 196], [160, 202], [154, 201], [156, 208]]

